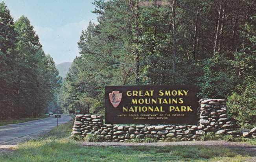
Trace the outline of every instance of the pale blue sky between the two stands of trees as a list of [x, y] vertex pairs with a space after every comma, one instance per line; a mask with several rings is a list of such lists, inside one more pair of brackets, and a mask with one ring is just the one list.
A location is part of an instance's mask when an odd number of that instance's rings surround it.
[[[2, 0], [0, 0], [2, 1]], [[56, 64], [79, 55], [77, 42], [88, 22], [96, 22], [94, 0], [4, 0], [14, 20], [25, 15]]]

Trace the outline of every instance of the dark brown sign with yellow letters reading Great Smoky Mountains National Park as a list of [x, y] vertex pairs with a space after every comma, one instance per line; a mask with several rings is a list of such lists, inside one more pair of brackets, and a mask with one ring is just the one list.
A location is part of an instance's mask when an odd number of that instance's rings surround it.
[[105, 123], [196, 124], [195, 85], [106, 86]]

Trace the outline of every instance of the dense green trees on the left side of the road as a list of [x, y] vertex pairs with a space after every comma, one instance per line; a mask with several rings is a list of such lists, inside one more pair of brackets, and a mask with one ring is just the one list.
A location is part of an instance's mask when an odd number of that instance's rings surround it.
[[28, 18], [16, 22], [0, 3], [0, 120], [36, 117], [61, 86], [55, 63], [42, 50]]

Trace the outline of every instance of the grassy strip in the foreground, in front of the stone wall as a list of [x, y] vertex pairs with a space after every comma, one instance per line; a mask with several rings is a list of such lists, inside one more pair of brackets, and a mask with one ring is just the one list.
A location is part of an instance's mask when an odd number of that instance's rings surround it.
[[55, 127], [43, 138], [24, 142], [12, 153], [0, 155], [0, 161], [241, 161], [250, 157], [239, 149], [209, 146], [85, 147], [68, 138], [71, 128], [72, 123]]

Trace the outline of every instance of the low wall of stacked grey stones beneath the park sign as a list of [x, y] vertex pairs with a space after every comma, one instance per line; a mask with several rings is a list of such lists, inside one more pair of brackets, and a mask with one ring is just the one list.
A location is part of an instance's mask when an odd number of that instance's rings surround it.
[[96, 134], [107, 141], [127, 141], [134, 138], [163, 140], [197, 140], [205, 133], [232, 134], [225, 99], [200, 99], [198, 125], [111, 125], [103, 123], [102, 115], [76, 115], [72, 136]]

